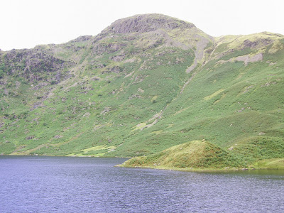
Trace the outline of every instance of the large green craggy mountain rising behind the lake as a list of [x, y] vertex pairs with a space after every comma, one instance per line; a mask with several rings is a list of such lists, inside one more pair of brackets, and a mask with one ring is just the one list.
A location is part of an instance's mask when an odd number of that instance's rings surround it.
[[0, 153], [152, 158], [200, 141], [239, 167], [281, 163], [283, 56], [283, 35], [214, 38], [156, 13], [1, 51]]

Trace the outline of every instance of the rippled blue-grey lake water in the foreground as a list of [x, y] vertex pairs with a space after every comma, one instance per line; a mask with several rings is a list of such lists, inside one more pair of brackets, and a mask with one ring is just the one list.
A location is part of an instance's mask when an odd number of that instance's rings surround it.
[[284, 212], [284, 172], [116, 168], [123, 158], [0, 157], [0, 212]]

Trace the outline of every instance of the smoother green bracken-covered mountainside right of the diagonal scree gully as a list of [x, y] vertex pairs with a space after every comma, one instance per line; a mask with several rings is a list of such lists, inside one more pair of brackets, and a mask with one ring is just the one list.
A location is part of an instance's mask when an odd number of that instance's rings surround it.
[[[227, 62], [221, 66], [209, 62], [205, 65], [185, 89], [185, 94], [165, 111], [166, 119], [155, 129], [159, 133], [155, 142], [165, 143], [168, 135], [173, 134], [178, 143], [206, 139], [229, 148], [228, 151], [246, 166], [283, 168], [281, 159], [273, 161], [275, 165], [263, 160], [284, 157], [281, 154], [283, 50], [273, 54], [268, 51], [262, 62], [247, 66], [242, 62]], [[277, 63], [268, 65], [271, 62]], [[173, 111], [177, 112], [173, 114]], [[266, 136], [265, 140], [263, 136]], [[253, 141], [261, 140], [267, 141], [267, 146], [251, 145]], [[258, 160], [262, 163], [252, 165]]]

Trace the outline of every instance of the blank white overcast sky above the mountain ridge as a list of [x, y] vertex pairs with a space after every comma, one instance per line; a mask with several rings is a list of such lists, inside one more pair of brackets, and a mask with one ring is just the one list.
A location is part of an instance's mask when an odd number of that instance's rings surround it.
[[283, 0], [0, 0], [0, 49], [97, 35], [119, 18], [163, 13], [212, 36], [284, 34]]

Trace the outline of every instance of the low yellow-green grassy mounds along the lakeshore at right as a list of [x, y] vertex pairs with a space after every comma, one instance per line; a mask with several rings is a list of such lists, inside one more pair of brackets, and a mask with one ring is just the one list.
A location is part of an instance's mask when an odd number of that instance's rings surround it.
[[254, 137], [225, 151], [208, 141], [190, 141], [148, 156], [131, 158], [122, 167], [170, 170], [283, 169], [283, 138]]

